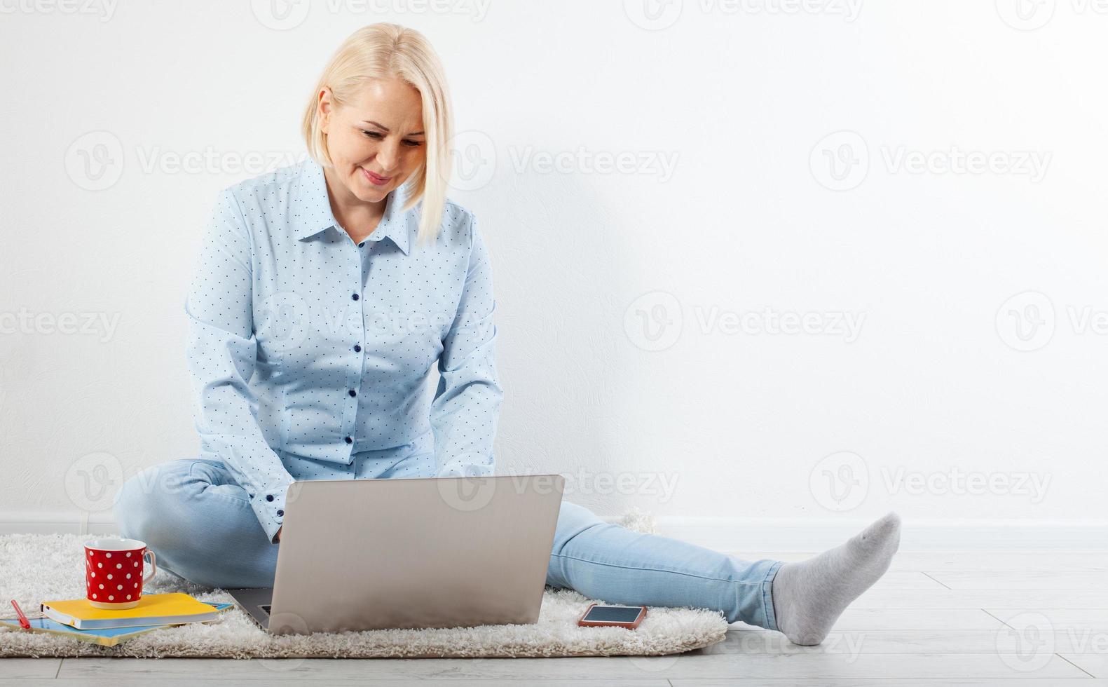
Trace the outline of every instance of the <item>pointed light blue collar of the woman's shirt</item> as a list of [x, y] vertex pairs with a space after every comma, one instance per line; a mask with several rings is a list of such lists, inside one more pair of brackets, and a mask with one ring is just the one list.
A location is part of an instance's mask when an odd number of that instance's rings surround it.
[[[293, 206], [297, 208], [293, 216], [293, 232], [297, 240], [304, 240], [332, 227], [337, 232], [342, 232], [331, 212], [324, 168], [315, 160], [310, 157], [305, 160], [293, 196]], [[384, 201], [384, 216], [366, 240], [388, 238], [408, 255], [409, 227], [416, 225], [409, 216], [411, 212], [401, 211], [404, 199], [402, 187], [389, 192]]]

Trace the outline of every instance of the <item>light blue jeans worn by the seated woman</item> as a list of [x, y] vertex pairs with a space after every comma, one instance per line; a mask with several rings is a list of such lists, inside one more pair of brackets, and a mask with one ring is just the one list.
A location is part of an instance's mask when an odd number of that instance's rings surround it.
[[[288, 462], [295, 479], [310, 479], [297, 474], [304, 461]], [[359, 464], [357, 478], [412, 476], [403, 462]], [[136, 474], [115, 496], [115, 521], [123, 536], [154, 550], [160, 567], [185, 580], [222, 588], [273, 586], [280, 545], [269, 543], [222, 462], [177, 460]], [[608, 604], [711, 608], [729, 623], [777, 629], [770, 592], [780, 566], [633, 532], [563, 500], [546, 584]]]

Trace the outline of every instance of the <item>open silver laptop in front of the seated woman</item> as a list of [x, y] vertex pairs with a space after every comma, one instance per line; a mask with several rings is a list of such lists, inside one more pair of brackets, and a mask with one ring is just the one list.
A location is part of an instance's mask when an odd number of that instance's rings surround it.
[[289, 485], [274, 587], [228, 589], [275, 635], [538, 621], [565, 479]]

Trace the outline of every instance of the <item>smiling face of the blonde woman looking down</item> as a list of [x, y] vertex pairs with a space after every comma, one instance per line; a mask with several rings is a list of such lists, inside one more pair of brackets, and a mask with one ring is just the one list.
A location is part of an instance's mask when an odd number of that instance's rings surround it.
[[325, 89], [319, 115], [335, 165], [328, 172], [359, 201], [380, 203], [423, 163], [422, 99], [402, 81], [372, 79], [345, 105]]

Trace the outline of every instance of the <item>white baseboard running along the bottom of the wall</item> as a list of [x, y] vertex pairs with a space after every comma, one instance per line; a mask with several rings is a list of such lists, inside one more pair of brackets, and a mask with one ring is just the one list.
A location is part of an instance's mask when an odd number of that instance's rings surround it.
[[[616, 522], [618, 516], [603, 516]], [[717, 551], [815, 552], [842, 543], [869, 524], [860, 519], [657, 516], [657, 533]], [[105, 513], [0, 513], [0, 534], [112, 534]], [[935, 520], [904, 522], [901, 551], [1108, 552], [1104, 520]]]

